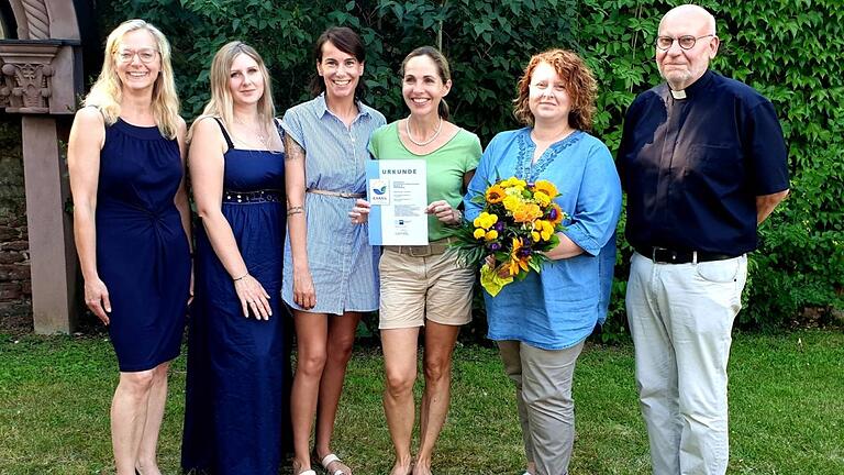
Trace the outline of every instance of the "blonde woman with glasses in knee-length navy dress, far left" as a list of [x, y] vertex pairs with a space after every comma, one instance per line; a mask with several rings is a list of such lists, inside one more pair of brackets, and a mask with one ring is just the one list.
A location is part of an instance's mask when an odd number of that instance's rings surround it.
[[190, 294], [186, 126], [157, 29], [130, 20], [106, 48], [68, 143], [74, 231], [86, 303], [109, 325], [120, 366], [111, 407], [116, 473], [159, 474], [167, 369]]

